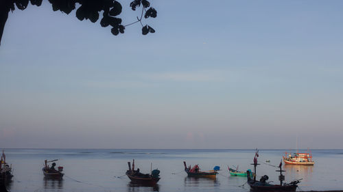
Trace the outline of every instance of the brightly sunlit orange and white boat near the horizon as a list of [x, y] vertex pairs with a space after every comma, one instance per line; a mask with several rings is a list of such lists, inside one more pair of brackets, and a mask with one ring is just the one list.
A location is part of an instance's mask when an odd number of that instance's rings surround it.
[[314, 161], [312, 161], [311, 152], [296, 152], [293, 155], [291, 153], [285, 152], [285, 156], [283, 156], [283, 161], [285, 162], [285, 165], [314, 165]]

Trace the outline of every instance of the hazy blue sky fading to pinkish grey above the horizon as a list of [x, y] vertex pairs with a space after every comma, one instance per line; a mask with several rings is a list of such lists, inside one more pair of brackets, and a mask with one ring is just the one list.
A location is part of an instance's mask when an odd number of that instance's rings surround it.
[[147, 36], [10, 12], [0, 148], [343, 147], [343, 1], [150, 3]]

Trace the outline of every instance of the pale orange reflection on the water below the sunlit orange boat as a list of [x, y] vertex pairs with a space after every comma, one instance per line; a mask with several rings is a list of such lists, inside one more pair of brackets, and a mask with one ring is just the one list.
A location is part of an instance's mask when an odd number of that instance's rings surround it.
[[303, 178], [303, 182], [309, 182], [312, 178], [314, 166], [285, 165], [285, 176], [288, 178]]

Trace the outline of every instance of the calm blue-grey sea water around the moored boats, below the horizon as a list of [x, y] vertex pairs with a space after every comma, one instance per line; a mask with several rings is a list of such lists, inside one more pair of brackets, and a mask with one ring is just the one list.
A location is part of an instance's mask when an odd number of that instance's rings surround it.
[[[270, 165], [279, 165], [285, 150], [259, 150], [257, 176], [268, 175], [278, 183], [278, 172]], [[294, 152], [294, 151], [293, 151]], [[312, 150], [316, 165], [311, 167], [283, 166], [285, 180], [303, 178], [298, 191], [341, 190], [343, 150]], [[249, 191], [244, 177], [232, 177], [227, 166], [252, 169], [255, 150], [62, 150], [62, 149], [5, 149], [6, 159], [14, 168], [10, 191]], [[60, 159], [64, 167], [63, 180], [45, 180], [43, 161]], [[132, 184], [123, 176], [128, 161], [135, 159], [143, 173], [161, 170], [156, 187]], [[265, 160], [270, 160], [266, 165]], [[217, 179], [187, 178], [183, 161], [199, 164], [202, 170], [222, 169]], [[241, 185], [244, 184], [242, 187]]]

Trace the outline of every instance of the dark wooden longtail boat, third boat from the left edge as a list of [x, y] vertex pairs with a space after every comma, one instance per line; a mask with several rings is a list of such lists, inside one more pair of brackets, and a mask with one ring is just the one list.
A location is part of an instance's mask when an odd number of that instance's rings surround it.
[[144, 185], [155, 185], [158, 180], [160, 180], [160, 171], [158, 169], [154, 169], [151, 171], [151, 174], [142, 174], [139, 172], [139, 169], [134, 170], [134, 160], [132, 161], [132, 169], [131, 164], [128, 162], [128, 171], [126, 171], [126, 176], [130, 178], [130, 180], [137, 184], [144, 184]]

